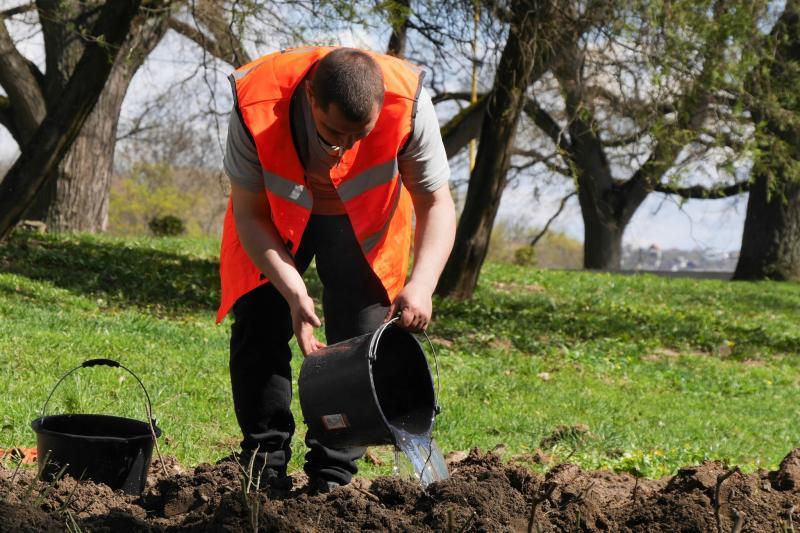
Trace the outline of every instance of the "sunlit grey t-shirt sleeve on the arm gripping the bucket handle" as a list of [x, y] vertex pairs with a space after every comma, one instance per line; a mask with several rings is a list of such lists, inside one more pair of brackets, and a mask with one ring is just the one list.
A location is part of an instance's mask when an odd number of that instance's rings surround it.
[[408, 146], [398, 154], [397, 165], [403, 185], [411, 193], [433, 192], [450, 179], [439, 119], [424, 87], [419, 93], [414, 131]]

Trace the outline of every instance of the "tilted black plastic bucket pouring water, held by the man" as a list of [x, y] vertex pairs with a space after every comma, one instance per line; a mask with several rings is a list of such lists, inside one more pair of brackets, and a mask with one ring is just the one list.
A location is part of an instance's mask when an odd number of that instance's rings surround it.
[[425, 352], [391, 322], [306, 357], [298, 391], [309, 431], [331, 448], [395, 444], [392, 428], [429, 434], [439, 411]]

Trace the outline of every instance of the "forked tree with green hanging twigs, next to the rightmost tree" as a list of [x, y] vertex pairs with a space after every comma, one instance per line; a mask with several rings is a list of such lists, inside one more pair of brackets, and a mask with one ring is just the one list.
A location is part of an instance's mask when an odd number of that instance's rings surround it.
[[[741, 152], [743, 142], [718, 95], [742, 80], [741, 51], [763, 10], [738, 0], [620, 3], [564, 47], [549, 87], [526, 106], [549, 142], [521, 154], [574, 181], [585, 268], [620, 267], [625, 229], [653, 191], [710, 199], [747, 190], [727, 168], [740, 153], [722, 147], [736, 141]], [[715, 159], [717, 183], [684, 185]]]

